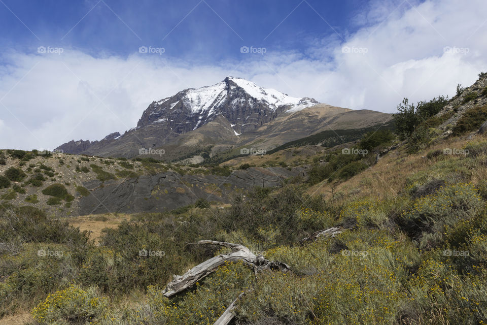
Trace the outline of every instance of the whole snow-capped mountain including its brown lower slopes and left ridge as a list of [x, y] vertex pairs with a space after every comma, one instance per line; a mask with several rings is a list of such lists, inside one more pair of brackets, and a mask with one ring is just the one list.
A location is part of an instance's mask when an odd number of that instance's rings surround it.
[[136, 127], [123, 135], [115, 133], [93, 142], [70, 141], [57, 149], [132, 158], [142, 148], [161, 148], [164, 160], [178, 160], [197, 156], [208, 147], [213, 156], [256, 140], [268, 150], [326, 129], [363, 128], [390, 119], [390, 114], [320, 104], [227, 77], [215, 85], [185, 89], [152, 102]]

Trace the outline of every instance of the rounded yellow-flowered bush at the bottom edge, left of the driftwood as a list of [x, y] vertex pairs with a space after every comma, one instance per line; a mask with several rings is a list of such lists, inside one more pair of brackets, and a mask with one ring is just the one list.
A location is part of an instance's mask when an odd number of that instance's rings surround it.
[[108, 307], [106, 298], [98, 297], [94, 287], [87, 290], [77, 285], [56, 291], [32, 310], [41, 325], [53, 323], [98, 323]]

